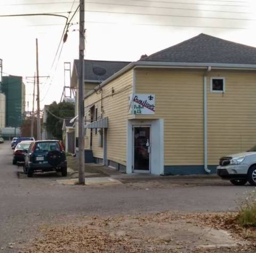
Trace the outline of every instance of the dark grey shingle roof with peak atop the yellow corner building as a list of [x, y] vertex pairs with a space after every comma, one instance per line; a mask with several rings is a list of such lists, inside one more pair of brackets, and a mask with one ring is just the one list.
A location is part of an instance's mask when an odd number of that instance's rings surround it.
[[256, 48], [199, 34], [140, 61], [256, 64]]

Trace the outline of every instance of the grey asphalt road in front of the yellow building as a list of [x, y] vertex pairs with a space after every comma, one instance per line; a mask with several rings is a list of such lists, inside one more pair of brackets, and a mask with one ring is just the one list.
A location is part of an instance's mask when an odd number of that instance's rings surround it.
[[[63, 186], [53, 173], [19, 177], [22, 168], [12, 165], [10, 143], [0, 144], [0, 249], [10, 242], [34, 236], [39, 224], [65, 215], [116, 215], [179, 211], [235, 210], [252, 186], [217, 185], [158, 187], [150, 183], [115, 186]], [[202, 179], [203, 180], [203, 179]], [[191, 179], [192, 183], [193, 179]], [[12, 252], [6, 249], [2, 252]], [[1, 252], [1, 250], [0, 250]], [[15, 252], [15, 251], [13, 251]]]

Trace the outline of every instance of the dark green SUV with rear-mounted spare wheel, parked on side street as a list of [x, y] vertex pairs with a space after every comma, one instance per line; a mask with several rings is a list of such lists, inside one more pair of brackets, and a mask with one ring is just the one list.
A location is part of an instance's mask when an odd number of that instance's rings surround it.
[[25, 150], [24, 172], [32, 177], [34, 172], [61, 172], [67, 176], [67, 160], [60, 141], [36, 141]]

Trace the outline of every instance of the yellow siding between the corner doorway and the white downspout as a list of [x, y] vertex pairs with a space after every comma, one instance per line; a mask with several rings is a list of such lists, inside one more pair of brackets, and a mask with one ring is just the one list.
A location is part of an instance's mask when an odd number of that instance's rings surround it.
[[136, 70], [136, 93], [156, 95], [155, 115], [136, 118], [164, 119], [164, 165], [202, 165], [202, 70]]

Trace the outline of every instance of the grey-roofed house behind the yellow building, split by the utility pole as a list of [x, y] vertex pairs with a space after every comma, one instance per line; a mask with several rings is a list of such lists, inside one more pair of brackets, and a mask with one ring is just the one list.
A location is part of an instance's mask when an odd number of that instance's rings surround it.
[[[76, 90], [76, 106], [75, 115], [78, 115], [78, 76], [79, 76], [79, 61], [74, 60], [73, 70], [71, 75], [71, 88]], [[97, 61], [97, 60], [85, 60], [84, 66], [84, 94], [92, 91], [96, 86], [102, 83], [110, 76], [113, 76], [116, 72], [123, 69], [130, 62], [126, 61]], [[89, 117], [85, 121], [91, 121]], [[75, 119], [75, 136], [76, 141], [74, 145], [78, 146], [78, 118]]]

